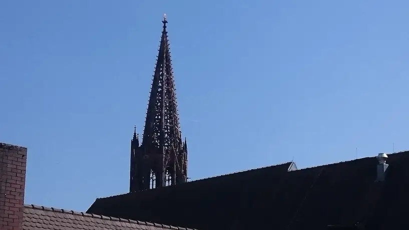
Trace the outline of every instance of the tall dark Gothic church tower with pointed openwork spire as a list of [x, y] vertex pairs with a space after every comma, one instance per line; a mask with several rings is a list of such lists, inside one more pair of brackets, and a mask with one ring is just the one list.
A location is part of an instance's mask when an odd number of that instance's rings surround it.
[[182, 140], [166, 15], [153, 75], [142, 143], [131, 140], [130, 192], [187, 181], [187, 143]]

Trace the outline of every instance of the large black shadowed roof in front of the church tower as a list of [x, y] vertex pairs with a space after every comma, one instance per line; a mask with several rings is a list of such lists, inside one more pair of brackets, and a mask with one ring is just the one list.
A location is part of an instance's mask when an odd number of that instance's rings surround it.
[[409, 152], [387, 163], [384, 182], [375, 182], [375, 157], [295, 171], [281, 164], [100, 198], [87, 212], [204, 230], [409, 229], [400, 211], [409, 204]]

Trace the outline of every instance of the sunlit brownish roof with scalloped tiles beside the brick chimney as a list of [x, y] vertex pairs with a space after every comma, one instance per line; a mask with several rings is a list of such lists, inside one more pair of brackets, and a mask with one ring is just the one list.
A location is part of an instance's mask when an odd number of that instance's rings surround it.
[[[103, 215], [88, 214], [83, 212], [68, 211], [64, 209], [49, 208], [36, 205], [24, 205], [23, 217], [24, 230], [161, 230], [161, 229], [184, 229], [158, 223], [120, 219]], [[192, 230], [192, 229], [190, 229]]]

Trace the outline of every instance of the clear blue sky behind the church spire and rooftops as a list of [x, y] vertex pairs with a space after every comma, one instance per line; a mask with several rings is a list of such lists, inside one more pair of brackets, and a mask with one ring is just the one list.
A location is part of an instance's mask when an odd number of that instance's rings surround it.
[[0, 141], [29, 149], [26, 203], [84, 211], [127, 192], [166, 12], [193, 179], [407, 149], [408, 10], [407, 0], [2, 0]]

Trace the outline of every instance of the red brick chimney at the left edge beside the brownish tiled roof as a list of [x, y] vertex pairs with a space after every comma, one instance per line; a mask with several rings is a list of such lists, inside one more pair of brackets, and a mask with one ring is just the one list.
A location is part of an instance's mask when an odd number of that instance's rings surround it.
[[0, 143], [0, 229], [22, 230], [27, 148]]

